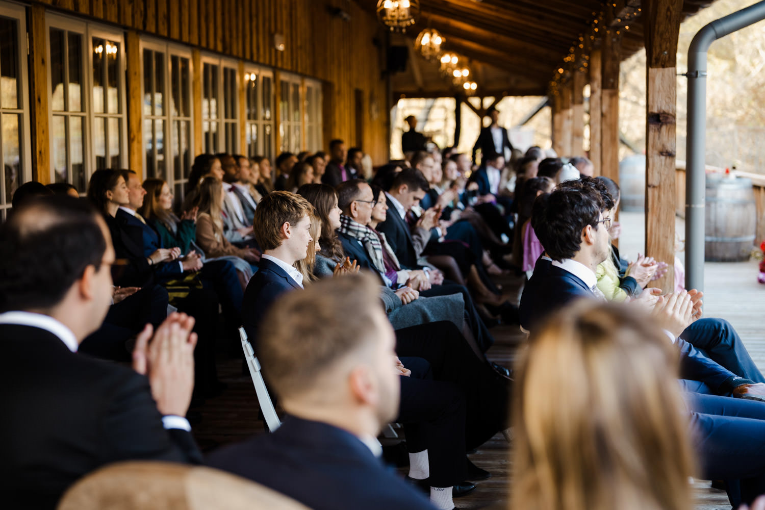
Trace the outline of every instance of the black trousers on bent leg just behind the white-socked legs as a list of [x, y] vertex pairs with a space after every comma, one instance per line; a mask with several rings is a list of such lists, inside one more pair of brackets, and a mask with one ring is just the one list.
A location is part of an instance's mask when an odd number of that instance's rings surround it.
[[454, 323], [439, 321], [397, 330], [396, 353], [427, 359], [435, 381], [452, 382], [464, 391], [467, 450], [506, 427], [509, 384], [474, 355]]

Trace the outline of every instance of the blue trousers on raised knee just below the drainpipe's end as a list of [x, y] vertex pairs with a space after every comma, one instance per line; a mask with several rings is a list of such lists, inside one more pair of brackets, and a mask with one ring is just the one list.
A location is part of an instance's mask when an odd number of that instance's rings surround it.
[[685, 328], [682, 339], [706, 357], [739, 377], [765, 382], [731, 323], [724, 319], [699, 319]]

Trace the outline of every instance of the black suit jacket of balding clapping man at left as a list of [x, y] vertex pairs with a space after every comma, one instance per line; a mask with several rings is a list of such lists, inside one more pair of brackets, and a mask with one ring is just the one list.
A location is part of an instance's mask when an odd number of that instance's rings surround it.
[[148, 381], [71, 352], [53, 333], [0, 324], [4, 508], [55, 508], [77, 479], [122, 460], [200, 463], [191, 434], [165, 430]]

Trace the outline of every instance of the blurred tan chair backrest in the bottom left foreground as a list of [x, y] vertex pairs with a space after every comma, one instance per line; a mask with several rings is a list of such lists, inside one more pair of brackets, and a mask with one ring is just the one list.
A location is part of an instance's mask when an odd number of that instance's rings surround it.
[[268, 487], [203, 466], [125, 462], [80, 479], [58, 510], [308, 510]]

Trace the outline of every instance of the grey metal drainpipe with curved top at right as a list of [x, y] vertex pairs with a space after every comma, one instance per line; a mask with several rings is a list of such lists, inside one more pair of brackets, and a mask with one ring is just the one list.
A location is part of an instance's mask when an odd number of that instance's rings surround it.
[[704, 290], [707, 52], [721, 37], [765, 19], [765, 1], [712, 21], [688, 47], [688, 138], [685, 141], [685, 288]]

